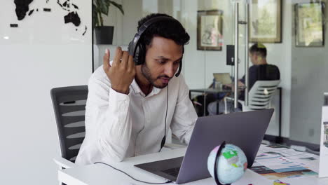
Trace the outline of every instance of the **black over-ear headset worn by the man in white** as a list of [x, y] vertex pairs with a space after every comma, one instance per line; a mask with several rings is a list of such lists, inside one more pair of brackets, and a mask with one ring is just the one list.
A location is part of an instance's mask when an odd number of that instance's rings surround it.
[[[133, 56], [133, 61], [135, 62], [135, 65], [143, 64], [146, 60], [146, 45], [144, 43], [140, 42], [140, 38], [142, 37], [142, 34], [146, 31], [146, 29], [150, 25], [153, 25], [153, 23], [160, 22], [163, 20], [170, 20], [173, 22], [177, 22], [177, 23], [179, 23], [179, 25], [181, 25], [181, 23], [179, 21], [175, 20], [175, 18], [166, 17], [166, 16], [158, 16], [158, 17], [151, 18], [150, 20], [147, 20], [146, 22], [144, 22], [144, 24], [139, 28], [139, 31], [137, 32], [137, 34], [135, 34], [135, 36], [133, 37], [133, 40], [130, 41], [129, 46], [128, 46], [128, 51], [129, 51], [130, 55]], [[183, 46], [182, 46], [182, 53], [184, 53]], [[181, 69], [182, 69], [182, 60], [180, 62], [179, 70], [177, 71], [177, 74], [175, 74], [175, 76], [180, 75]]]

